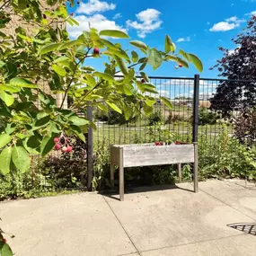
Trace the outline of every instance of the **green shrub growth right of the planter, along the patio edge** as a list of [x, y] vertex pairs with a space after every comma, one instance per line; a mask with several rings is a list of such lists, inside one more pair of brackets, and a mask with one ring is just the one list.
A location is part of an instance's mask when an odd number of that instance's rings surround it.
[[229, 137], [226, 126], [212, 143], [206, 137], [199, 140], [200, 176], [207, 178], [256, 179], [256, 150], [243, 146], [238, 139]]

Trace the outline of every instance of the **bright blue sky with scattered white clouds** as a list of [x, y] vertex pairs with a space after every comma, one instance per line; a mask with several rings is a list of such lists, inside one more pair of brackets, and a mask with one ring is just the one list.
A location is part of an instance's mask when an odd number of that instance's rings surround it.
[[[132, 40], [143, 40], [150, 47], [163, 49], [164, 36], [168, 34], [178, 49], [201, 58], [202, 77], [216, 78], [217, 71], [208, 69], [222, 57], [217, 47], [235, 49], [231, 39], [243, 30], [251, 14], [256, 14], [256, 0], [84, 0], [68, 9], [80, 22], [78, 27], [68, 27], [71, 37], [88, 30], [91, 22], [98, 30], [121, 29]], [[122, 45], [130, 49], [127, 40], [122, 40]], [[102, 66], [101, 58], [90, 62], [96, 68]], [[193, 66], [178, 70], [174, 66], [170, 62], [155, 71], [148, 67], [146, 72], [189, 77], [198, 73]]]

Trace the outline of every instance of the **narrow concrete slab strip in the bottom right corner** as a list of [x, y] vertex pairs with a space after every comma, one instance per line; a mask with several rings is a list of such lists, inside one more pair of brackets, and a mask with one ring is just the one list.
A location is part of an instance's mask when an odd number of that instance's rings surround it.
[[255, 256], [255, 252], [256, 237], [247, 234], [142, 252], [141, 256]]

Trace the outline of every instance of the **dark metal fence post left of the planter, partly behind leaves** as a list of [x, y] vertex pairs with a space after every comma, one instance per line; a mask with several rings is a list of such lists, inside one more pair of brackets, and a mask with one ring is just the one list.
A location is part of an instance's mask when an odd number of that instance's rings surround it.
[[[93, 121], [93, 107], [88, 103], [87, 106], [87, 119]], [[93, 190], [93, 128], [88, 128], [86, 137], [87, 142], [87, 189]]]

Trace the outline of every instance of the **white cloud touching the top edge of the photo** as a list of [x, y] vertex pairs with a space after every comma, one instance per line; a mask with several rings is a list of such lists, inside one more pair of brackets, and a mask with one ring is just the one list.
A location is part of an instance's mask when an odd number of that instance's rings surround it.
[[80, 6], [76, 9], [75, 13], [103, 13], [106, 11], [114, 10], [116, 4], [102, 2], [100, 0], [89, 0], [86, 4], [81, 3]]

